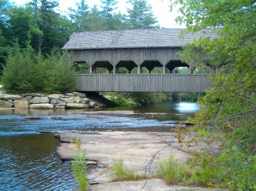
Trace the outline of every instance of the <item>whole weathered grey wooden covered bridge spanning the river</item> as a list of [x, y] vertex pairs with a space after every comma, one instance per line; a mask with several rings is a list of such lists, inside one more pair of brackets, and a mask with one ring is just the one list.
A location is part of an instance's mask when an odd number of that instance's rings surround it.
[[[90, 74], [77, 75], [77, 91], [204, 92], [209, 87], [204, 75], [174, 77], [172, 74], [175, 67], [181, 66], [188, 67], [189, 74], [192, 74], [191, 67], [181, 62], [176, 53], [191, 40], [205, 35], [201, 31], [179, 39], [181, 30], [73, 33], [63, 49], [72, 52], [74, 62], [86, 62], [90, 67]], [[108, 69], [109, 74], [97, 74], [99, 67]], [[121, 67], [125, 67], [129, 74], [118, 74]], [[147, 74], [142, 74], [143, 67], [148, 70]], [[155, 67], [162, 67], [162, 74], [151, 74]], [[134, 68], [138, 69], [137, 74], [130, 74]]]

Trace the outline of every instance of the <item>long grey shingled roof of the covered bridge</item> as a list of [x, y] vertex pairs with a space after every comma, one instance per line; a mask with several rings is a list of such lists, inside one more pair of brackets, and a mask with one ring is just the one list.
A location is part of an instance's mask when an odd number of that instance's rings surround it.
[[204, 31], [184, 35], [179, 39], [181, 28], [131, 29], [120, 31], [74, 32], [63, 49], [105, 49], [105, 48], [156, 48], [181, 47], [193, 39], [205, 35]]

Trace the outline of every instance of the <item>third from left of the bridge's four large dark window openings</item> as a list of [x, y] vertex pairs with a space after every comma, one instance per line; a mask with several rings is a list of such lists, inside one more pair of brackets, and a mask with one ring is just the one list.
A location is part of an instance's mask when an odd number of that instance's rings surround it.
[[144, 61], [141, 67], [143, 74], [163, 74], [163, 65], [159, 61]]

